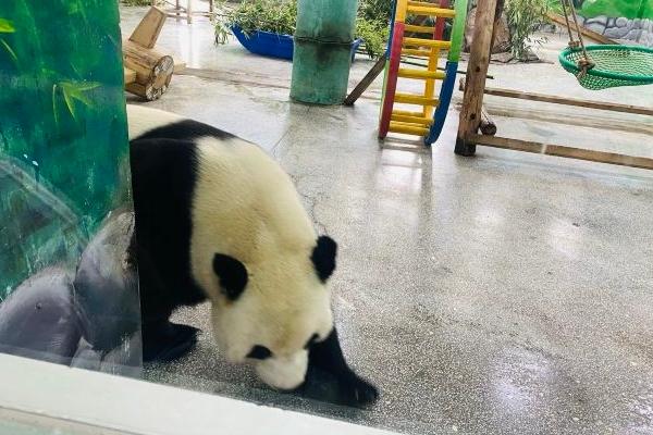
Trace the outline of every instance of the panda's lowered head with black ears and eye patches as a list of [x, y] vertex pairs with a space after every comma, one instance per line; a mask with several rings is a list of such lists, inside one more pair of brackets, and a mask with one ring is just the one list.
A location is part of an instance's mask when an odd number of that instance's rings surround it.
[[304, 382], [309, 346], [333, 328], [328, 281], [336, 249], [321, 236], [275, 244], [274, 252], [256, 261], [214, 253], [222, 297], [212, 298], [213, 334], [230, 361], [254, 363], [261, 381], [279, 389]]

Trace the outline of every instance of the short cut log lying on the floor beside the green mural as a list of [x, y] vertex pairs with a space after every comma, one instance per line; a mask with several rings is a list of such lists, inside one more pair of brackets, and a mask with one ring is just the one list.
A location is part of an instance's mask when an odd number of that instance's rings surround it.
[[174, 71], [174, 61], [170, 55], [125, 40], [123, 62], [125, 67], [136, 73], [136, 80], [125, 86], [127, 91], [152, 101], [168, 89]]

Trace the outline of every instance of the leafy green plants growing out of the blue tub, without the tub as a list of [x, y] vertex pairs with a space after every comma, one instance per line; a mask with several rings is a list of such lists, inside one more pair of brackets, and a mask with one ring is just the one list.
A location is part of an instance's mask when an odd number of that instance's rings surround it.
[[[365, 49], [371, 58], [385, 52], [391, 8], [390, 0], [359, 2], [356, 37], [365, 40]], [[215, 44], [225, 44], [234, 25], [241, 27], [245, 34], [262, 30], [293, 35], [296, 22], [297, 0], [243, 0], [235, 9], [218, 16]]]

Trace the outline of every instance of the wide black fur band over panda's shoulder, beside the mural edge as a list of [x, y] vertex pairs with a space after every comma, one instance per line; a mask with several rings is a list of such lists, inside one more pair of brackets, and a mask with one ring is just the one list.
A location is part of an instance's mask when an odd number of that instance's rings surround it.
[[190, 272], [197, 146], [178, 129], [167, 137], [173, 132], [162, 127], [130, 142], [144, 322], [206, 299]]

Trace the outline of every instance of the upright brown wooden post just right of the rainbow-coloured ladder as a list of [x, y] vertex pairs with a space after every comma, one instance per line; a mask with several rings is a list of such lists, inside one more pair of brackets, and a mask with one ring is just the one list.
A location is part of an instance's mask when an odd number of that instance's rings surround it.
[[458, 137], [455, 152], [463, 156], [473, 156], [476, 146], [467, 140], [476, 135], [481, 123], [483, 105], [483, 89], [485, 75], [490, 66], [490, 51], [494, 33], [494, 17], [497, 13], [497, 0], [480, 1], [473, 28], [473, 38], [467, 65], [467, 85], [463, 97], [463, 110], [458, 124]]

